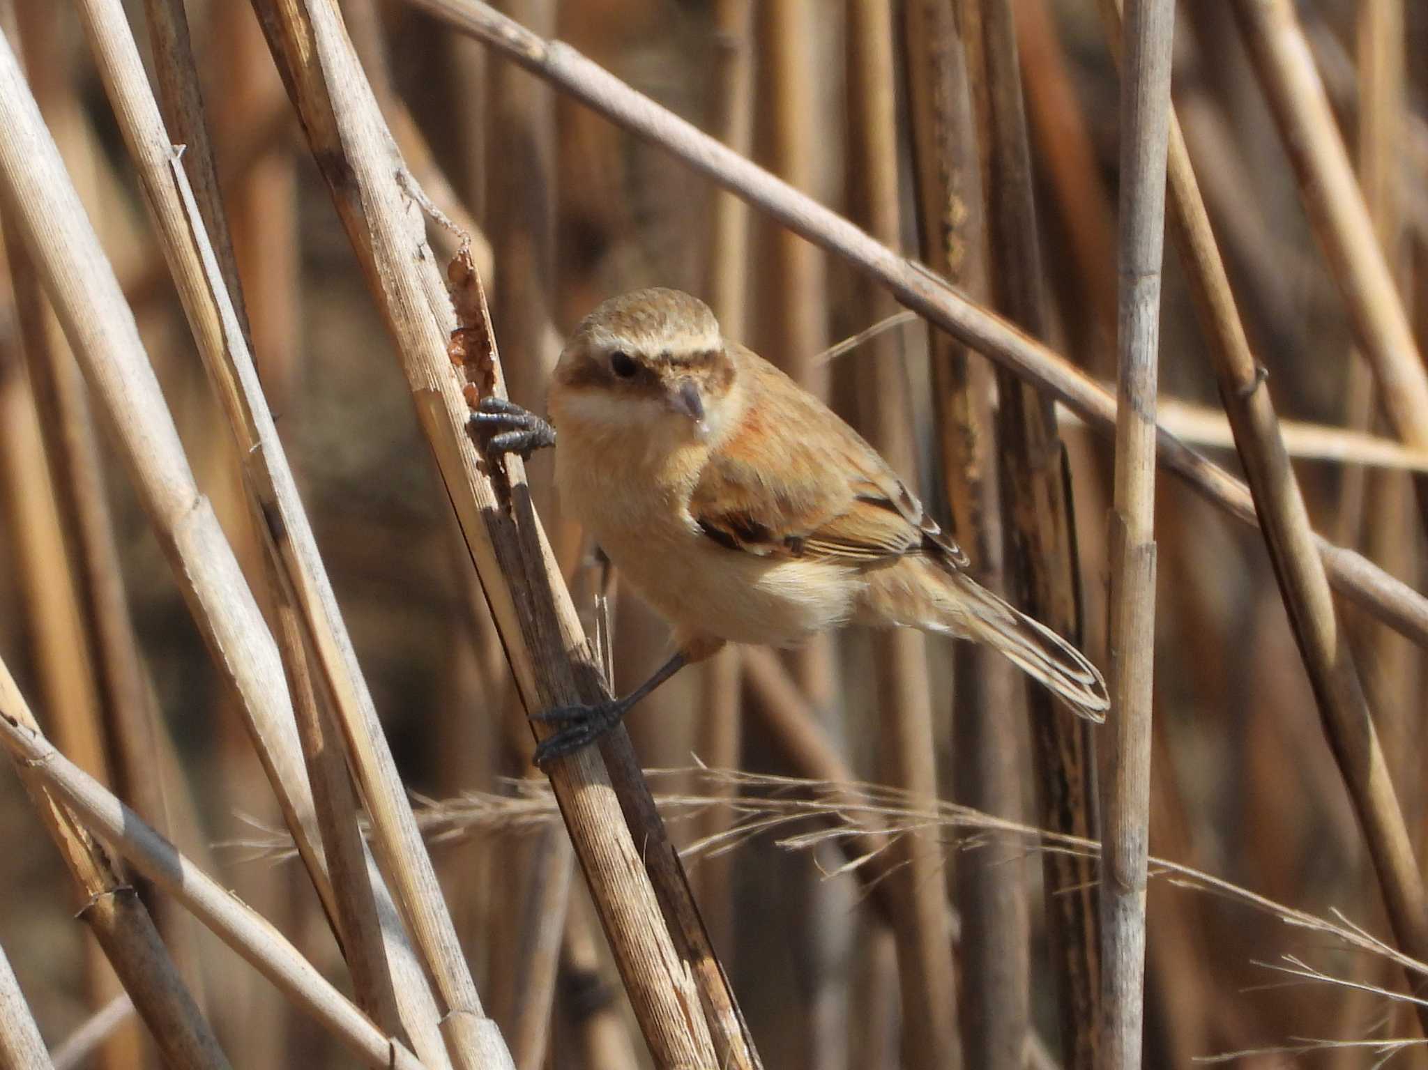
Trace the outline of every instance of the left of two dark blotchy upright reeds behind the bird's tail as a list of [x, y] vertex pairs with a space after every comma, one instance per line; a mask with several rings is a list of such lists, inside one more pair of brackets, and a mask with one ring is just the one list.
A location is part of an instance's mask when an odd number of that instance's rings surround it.
[[[965, 50], [945, 0], [902, 7], [904, 73], [911, 111], [917, 223], [922, 260], [968, 290], [981, 274], [984, 213], [977, 136], [968, 100]], [[952, 535], [975, 562], [978, 581], [1002, 588], [997, 501], [992, 374], [965, 347], [928, 332], [932, 405]], [[1012, 665], [978, 643], [954, 649], [952, 789], [957, 799], [1004, 817], [1021, 817], [1021, 766]], [[995, 839], [957, 860], [955, 893], [964, 919], [962, 974], [978, 979], [961, 994], [962, 1053], [968, 1066], [1021, 1070], [1028, 1036], [1030, 917], [1020, 849]]]

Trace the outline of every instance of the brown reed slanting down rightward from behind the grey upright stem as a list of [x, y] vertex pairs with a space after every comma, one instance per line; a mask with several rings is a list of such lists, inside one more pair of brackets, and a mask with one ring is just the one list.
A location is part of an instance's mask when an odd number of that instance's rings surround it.
[[[1114, 3], [1107, 0], [1102, 11], [1108, 36], [1112, 41], [1120, 40]], [[1394, 795], [1348, 639], [1335, 616], [1334, 596], [1315, 552], [1308, 511], [1284, 448], [1262, 368], [1250, 351], [1190, 151], [1174, 117], [1167, 170], [1172, 233], [1211, 342], [1220, 395], [1250, 475], [1275, 579], [1324, 730], [1364, 827], [1394, 934], [1405, 953], [1422, 960], [1428, 954], [1428, 899], [1407, 822]], [[1428, 1019], [1424, 1010], [1419, 1014]]]

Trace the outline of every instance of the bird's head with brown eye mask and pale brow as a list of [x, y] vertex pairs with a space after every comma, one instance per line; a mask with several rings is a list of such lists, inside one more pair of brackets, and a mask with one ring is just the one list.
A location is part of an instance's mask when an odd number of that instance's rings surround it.
[[[728, 415], [735, 367], [708, 305], [635, 290], [584, 318], [551, 381], [551, 412], [608, 429], [708, 439]], [[661, 437], [663, 437], [661, 435]]]

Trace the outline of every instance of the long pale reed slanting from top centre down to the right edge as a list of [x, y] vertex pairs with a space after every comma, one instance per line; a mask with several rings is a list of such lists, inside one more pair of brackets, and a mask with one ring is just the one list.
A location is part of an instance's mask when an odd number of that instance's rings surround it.
[[[845, 258], [888, 287], [904, 305], [998, 364], [1011, 367], [1092, 427], [1101, 431], [1114, 427], [1114, 398], [1065, 358], [971, 302], [927, 268], [898, 257], [845, 218], [654, 104], [568, 44], [537, 37], [480, 0], [408, 3], [478, 37], [611, 121], [663, 146], [794, 233]], [[1250, 489], [1167, 431], [1160, 431], [1157, 461], [1232, 516], [1255, 522]], [[1315, 544], [1341, 593], [1414, 642], [1428, 645], [1428, 599], [1354, 551], [1321, 536], [1315, 536]]]

